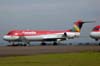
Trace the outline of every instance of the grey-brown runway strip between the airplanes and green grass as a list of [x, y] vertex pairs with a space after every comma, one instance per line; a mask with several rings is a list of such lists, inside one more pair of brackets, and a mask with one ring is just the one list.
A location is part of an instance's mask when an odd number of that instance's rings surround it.
[[0, 57], [48, 53], [100, 52], [100, 46], [11, 46], [0, 47]]

